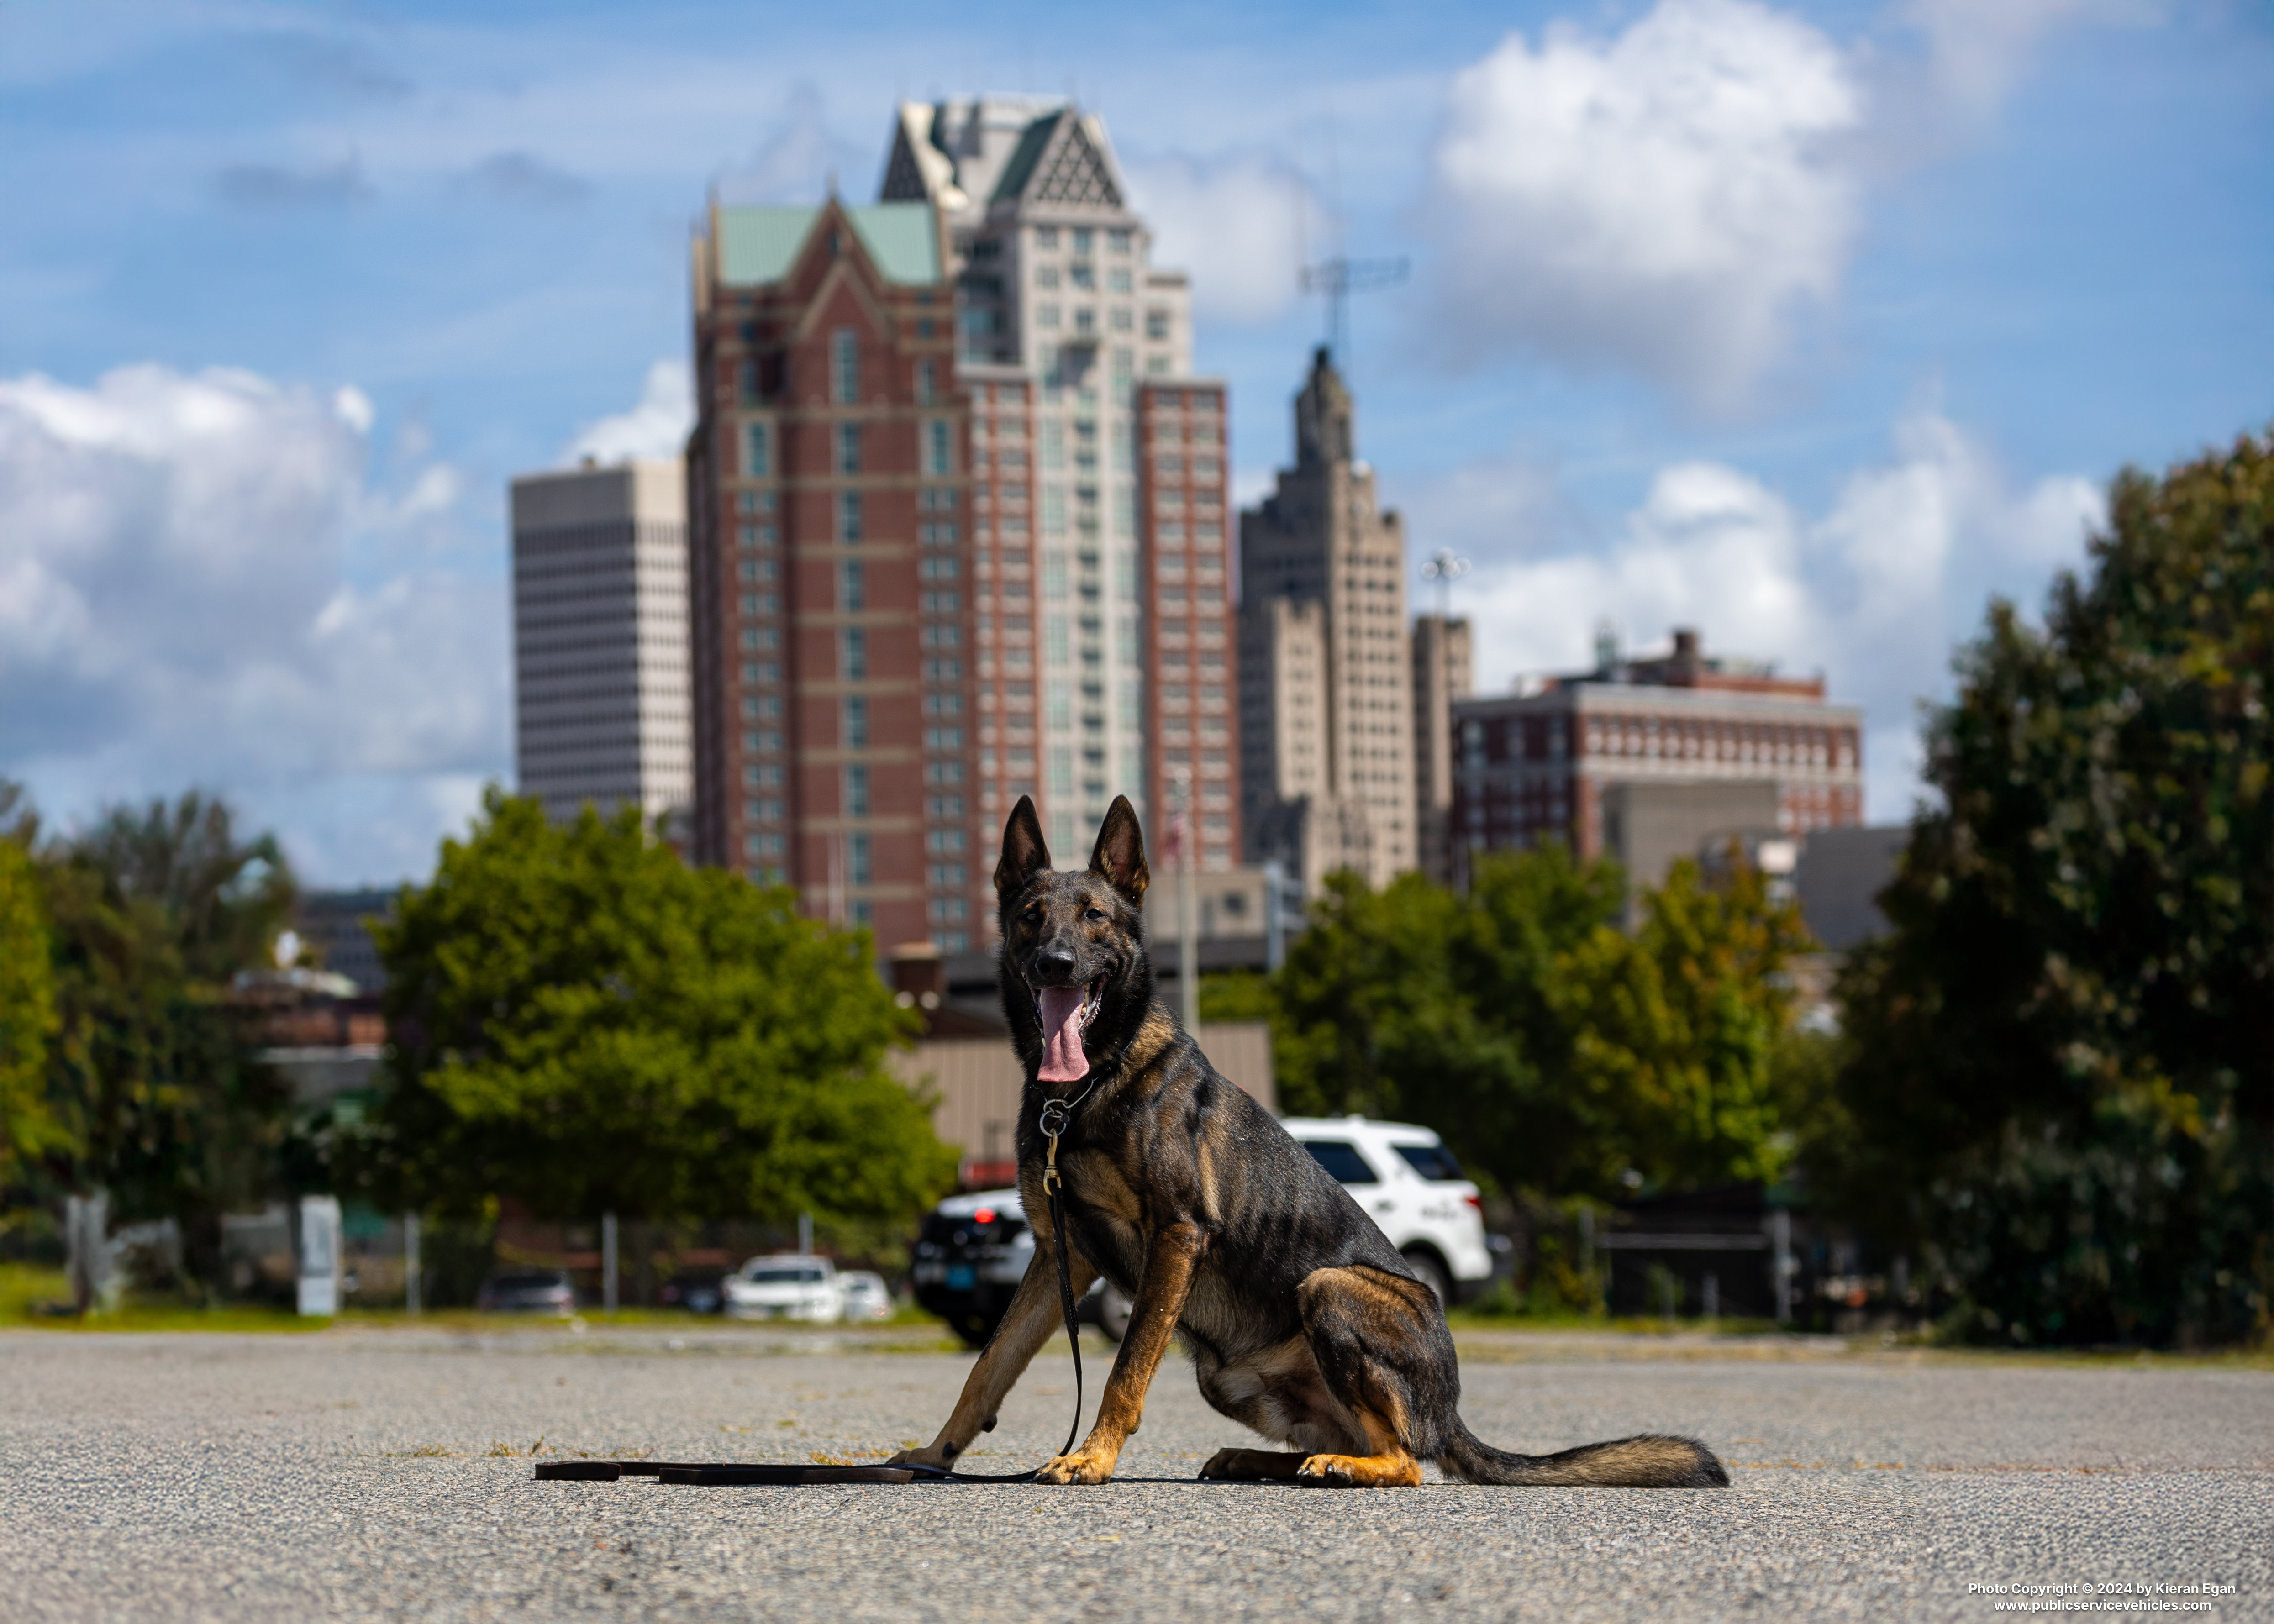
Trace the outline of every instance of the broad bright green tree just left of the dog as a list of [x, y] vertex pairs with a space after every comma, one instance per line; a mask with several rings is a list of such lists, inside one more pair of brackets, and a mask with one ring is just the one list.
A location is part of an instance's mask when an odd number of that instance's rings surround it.
[[387, 1203], [862, 1219], [955, 1178], [882, 1064], [910, 1017], [869, 935], [682, 867], [632, 810], [559, 828], [493, 789], [377, 939], [391, 1087], [343, 1167]]

